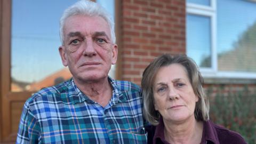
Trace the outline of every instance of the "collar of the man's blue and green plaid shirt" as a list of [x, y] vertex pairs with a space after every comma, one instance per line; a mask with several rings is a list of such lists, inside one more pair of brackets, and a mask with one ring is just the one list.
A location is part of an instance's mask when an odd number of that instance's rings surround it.
[[[110, 105], [115, 105], [116, 102], [126, 101], [127, 99], [125, 95], [118, 89], [116, 81], [113, 78], [108, 77], [108, 82], [113, 89], [113, 97], [110, 100]], [[87, 103], [95, 103], [93, 100], [89, 99], [87, 95], [85, 95], [81, 90], [79, 90], [73, 78], [70, 79], [70, 84], [68, 85], [68, 94], [70, 101], [71, 103], [73, 103], [73, 105], [75, 103], [84, 101], [86, 101]]]

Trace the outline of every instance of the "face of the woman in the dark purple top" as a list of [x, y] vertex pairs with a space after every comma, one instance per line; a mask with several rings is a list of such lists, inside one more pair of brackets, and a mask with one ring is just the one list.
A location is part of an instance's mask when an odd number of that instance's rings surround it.
[[154, 106], [164, 121], [182, 122], [194, 118], [198, 97], [185, 67], [178, 63], [162, 67], [154, 79]]

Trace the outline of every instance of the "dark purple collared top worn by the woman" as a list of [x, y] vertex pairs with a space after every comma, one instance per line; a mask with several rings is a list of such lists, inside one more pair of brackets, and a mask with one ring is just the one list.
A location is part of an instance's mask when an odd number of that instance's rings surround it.
[[[148, 143], [153, 144], [170, 144], [164, 139], [164, 123], [161, 118], [157, 126], [147, 126], [146, 132], [148, 133]], [[222, 143], [239, 143], [246, 144], [243, 137], [237, 132], [230, 131], [225, 127], [221, 127], [212, 123], [210, 120], [204, 122], [203, 136], [201, 144], [222, 144]]]

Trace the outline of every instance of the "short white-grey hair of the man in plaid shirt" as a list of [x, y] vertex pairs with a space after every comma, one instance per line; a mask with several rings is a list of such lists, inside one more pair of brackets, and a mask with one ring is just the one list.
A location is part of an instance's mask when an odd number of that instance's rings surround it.
[[63, 12], [62, 17], [60, 18], [60, 40], [62, 45], [64, 44], [63, 27], [65, 25], [67, 18], [78, 14], [86, 15], [89, 17], [98, 16], [105, 19], [110, 27], [111, 42], [113, 44], [116, 43], [115, 23], [114, 20], [111, 18], [111, 15], [101, 5], [95, 2], [91, 2], [89, 0], [81, 0], [69, 6]]

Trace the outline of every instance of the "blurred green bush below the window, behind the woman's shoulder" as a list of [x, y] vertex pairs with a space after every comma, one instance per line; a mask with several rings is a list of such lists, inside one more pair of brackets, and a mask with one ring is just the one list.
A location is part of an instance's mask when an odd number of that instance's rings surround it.
[[247, 87], [241, 91], [219, 89], [210, 97], [210, 119], [240, 133], [247, 143], [256, 143], [256, 93]]

